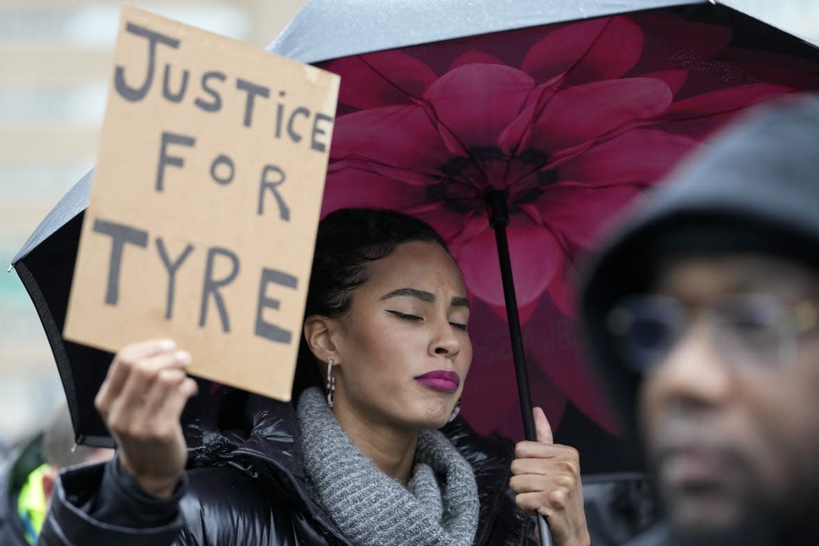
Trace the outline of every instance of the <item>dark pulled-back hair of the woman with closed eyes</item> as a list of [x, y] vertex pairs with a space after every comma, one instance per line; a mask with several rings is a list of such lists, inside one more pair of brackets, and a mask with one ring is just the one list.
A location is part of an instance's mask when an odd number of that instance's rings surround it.
[[[305, 318], [337, 318], [352, 305], [352, 292], [369, 280], [369, 264], [391, 255], [408, 242], [446, 242], [426, 222], [395, 210], [340, 209], [319, 222]], [[307, 386], [320, 385], [321, 377], [310, 348], [302, 338], [293, 384], [293, 399]]]

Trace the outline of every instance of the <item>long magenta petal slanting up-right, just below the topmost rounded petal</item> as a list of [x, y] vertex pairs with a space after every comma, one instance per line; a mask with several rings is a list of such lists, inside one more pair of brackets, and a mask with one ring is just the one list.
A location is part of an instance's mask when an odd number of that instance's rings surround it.
[[660, 79], [614, 79], [563, 89], [532, 128], [532, 145], [557, 151], [588, 142], [662, 114], [671, 101], [671, 90]]

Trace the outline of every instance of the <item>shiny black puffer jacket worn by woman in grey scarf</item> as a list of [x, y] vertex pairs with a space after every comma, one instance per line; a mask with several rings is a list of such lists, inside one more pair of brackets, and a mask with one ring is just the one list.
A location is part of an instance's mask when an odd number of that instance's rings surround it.
[[[236, 407], [236, 403], [233, 400], [229, 405]], [[93, 517], [94, 498], [104, 466], [84, 467], [61, 475], [38, 544], [349, 544], [310, 499], [292, 405], [247, 395], [241, 406], [243, 414], [233, 419], [224, 411], [216, 412], [221, 426], [211, 422], [193, 431], [201, 434], [206, 447], [191, 453], [186, 472], [188, 490], [174, 521], [156, 526], [97, 521]], [[475, 473], [481, 503], [475, 544], [536, 544], [532, 518], [515, 507], [514, 495], [509, 492], [514, 453], [511, 442], [478, 435], [462, 419], [451, 422], [443, 432]], [[146, 514], [150, 521], [152, 508], [137, 501], [129, 505], [131, 508]]]

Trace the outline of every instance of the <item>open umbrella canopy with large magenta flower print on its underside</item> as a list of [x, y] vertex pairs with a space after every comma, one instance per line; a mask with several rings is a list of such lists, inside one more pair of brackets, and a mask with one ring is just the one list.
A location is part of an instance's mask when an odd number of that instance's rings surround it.
[[[700, 2], [367, 5], [314, 0], [270, 46], [342, 74], [324, 212], [395, 208], [447, 238], [475, 308], [464, 415], [480, 431], [520, 438], [486, 215], [486, 194], [501, 192], [535, 403], [556, 440], [581, 451], [586, 474], [639, 470], [573, 338], [577, 261], [613, 214], [737, 112], [819, 88], [817, 50]], [[89, 180], [13, 264], [43, 320], [80, 440], [106, 444], [93, 398], [111, 354], [61, 338]], [[203, 387], [184, 420], [200, 412]]]

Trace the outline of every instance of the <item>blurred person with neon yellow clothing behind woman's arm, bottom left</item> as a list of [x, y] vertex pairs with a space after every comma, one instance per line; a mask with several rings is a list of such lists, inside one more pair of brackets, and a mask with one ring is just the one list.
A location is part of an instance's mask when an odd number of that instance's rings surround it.
[[113, 449], [75, 446], [68, 408], [61, 406], [43, 434], [13, 454], [0, 469], [0, 544], [34, 544], [57, 473], [65, 467], [104, 461], [113, 453]]

